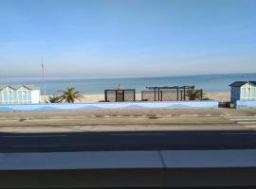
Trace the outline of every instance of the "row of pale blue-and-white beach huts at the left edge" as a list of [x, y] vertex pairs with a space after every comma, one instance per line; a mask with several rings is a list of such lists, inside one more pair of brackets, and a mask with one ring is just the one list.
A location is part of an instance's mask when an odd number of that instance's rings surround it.
[[0, 85], [0, 104], [38, 104], [40, 89], [32, 85]]

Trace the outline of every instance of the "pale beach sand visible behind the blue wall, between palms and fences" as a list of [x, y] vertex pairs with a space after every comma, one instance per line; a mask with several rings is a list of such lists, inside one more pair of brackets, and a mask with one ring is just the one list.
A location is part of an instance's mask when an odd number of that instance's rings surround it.
[[[46, 95], [46, 100], [48, 99], [49, 95]], [[211, 100], [217, 100], [217, 101], [229, 101], [230, 100], [230, 93], [207, 93], [205, 97], [208, 97]], [[141, 100], [141, 94], [136, 94], [136, 99]], [[104, 94], [82, 94], [81, 101], [76, 102], [99, 102], [104, 100]], [[41, 102], [45, 101], [45, 96], [41, 96]]]

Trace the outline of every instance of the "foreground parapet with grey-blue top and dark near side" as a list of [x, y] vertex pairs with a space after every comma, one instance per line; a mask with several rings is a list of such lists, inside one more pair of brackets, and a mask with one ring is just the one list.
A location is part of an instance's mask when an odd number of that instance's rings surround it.
[[0, 187], [255, 188], [255, 160], [255, 149], [1, 153]]

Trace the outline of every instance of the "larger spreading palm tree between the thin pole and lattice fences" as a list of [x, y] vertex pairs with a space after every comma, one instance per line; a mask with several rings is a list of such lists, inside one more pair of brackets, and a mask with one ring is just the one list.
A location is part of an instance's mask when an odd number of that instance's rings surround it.
[[59, 91], [59, 92], [63, 93], [60, 96], [60, 98], [64, 102], [74, 103], [75, 100], [81, 101], [82, 94], [80, 94], [80, 92], [77, 92], [75, 87], [68, 87], [66, 88], [66, 91]]

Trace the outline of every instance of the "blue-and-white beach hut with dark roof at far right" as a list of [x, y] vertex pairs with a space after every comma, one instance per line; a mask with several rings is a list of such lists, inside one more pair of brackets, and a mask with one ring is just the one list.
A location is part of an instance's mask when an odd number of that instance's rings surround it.
[[256, 81], [235, 81], [231, 87], [231, 102], [236, 100], [256, 100]]

